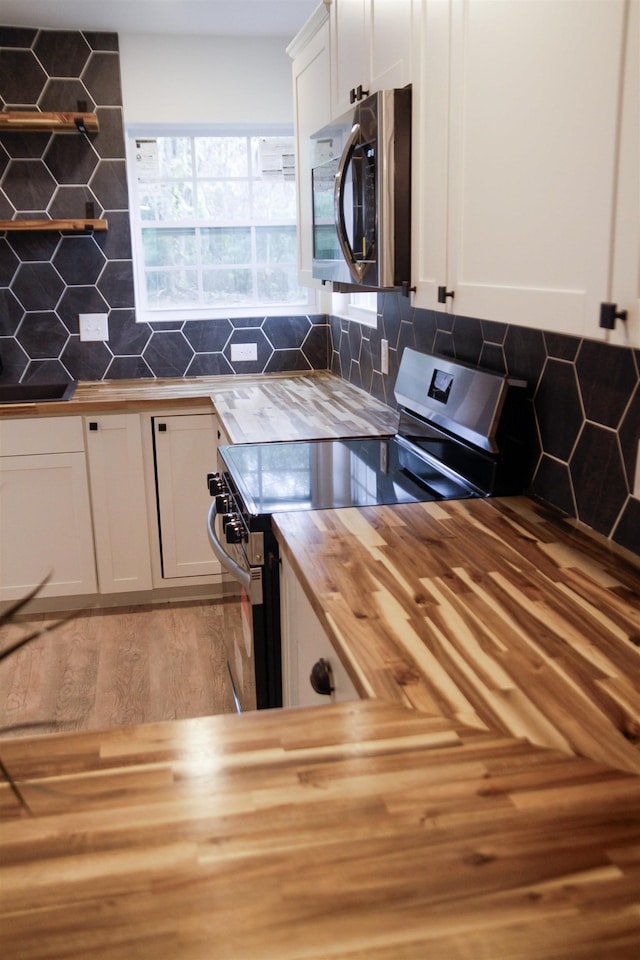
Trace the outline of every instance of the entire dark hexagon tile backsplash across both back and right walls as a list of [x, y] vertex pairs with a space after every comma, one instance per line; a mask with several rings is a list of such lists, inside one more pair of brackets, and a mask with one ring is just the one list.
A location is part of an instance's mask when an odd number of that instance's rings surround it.
[[[1, 14], [0, 14], [1, 16]], [[100, 132], [4, 134], [0, 219], [84, 217], [92, 203], [109, 230], [87, 236], [0, 235], [2, 379], [205, 376], [329, 368], [395, 405], [405, 346], [526, 379], [531, 491], [640, 555], [632, 495], [640, 443], [640, 351], [378, 298], [378, 328], [335, 317], [135, 322], [116, 34], [0, 26], [0, 108], [95, 110]], [[107, 342], [81, 342], [79, 313], [109, 316]], [[390, 346], [380, 370], [380, 340]], [[256, 343], [234, 363], [231, 345]]]

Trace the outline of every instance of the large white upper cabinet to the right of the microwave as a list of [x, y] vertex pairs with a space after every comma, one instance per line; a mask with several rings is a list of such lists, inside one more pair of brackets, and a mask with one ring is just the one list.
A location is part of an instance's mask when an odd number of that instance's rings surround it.
[[640, 343], [638, 4], [415, 9], [415, 304]]

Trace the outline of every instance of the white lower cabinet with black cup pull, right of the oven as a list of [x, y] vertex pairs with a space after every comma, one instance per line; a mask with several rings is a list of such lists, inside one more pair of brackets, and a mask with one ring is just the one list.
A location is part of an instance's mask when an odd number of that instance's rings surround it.
[[[286, 557], [280, 566], [280, 604], [283, 705], [313, 707], [360, 699]], [[333, 691], [329, 695], [316, 693], [311, 686], [311, 672], [320, 660], [331, 670]]]

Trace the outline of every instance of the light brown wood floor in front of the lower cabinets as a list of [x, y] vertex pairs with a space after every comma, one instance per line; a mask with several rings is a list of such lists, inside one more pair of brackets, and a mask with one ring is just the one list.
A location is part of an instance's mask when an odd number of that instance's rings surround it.
[[[54, 617], [0, 631], [0, 649]], [[234, 600], [92, 610], [0, 664], [0, 737], [233, 713]]]

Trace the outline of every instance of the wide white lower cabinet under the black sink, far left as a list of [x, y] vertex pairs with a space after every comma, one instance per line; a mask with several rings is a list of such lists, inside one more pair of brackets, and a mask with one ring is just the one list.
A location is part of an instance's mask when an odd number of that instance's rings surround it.
[[0, 600], [96, 591], [81, 417], [0, 421]]

